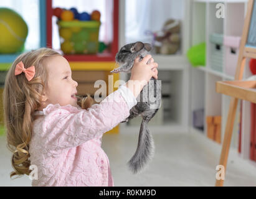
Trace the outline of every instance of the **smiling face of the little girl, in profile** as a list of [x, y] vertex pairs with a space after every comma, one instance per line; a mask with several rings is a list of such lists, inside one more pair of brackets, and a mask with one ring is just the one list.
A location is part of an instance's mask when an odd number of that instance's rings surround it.
[[77, 81], [72, 80], [70, 65], [62, 56], [49, 57], [45, 60], [48, 82], [45, 86], [42, 109], [48, 104], [65, 106], [77, 105]]

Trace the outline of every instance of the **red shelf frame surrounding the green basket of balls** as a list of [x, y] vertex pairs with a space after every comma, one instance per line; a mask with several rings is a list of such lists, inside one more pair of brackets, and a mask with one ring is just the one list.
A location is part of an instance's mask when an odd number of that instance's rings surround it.
[[[54, 10], [54, 1], [55, 0], [47, 0], [47, 46], [52, 48], [53, 44], [52, 44], [52, 40], [53, 40], [53, 25], [54, 21], [53, 21], [53, 10]], [[80, 0], [75, 0], [72, 2], [73, 7], [75, 7], [76, 2], [81, 2]], [[58, 2], [60, 3], [60, 2]], [[95, 55], [64, 55], [64, 57], [69, 61], [69, 62], [113, 62], [115, 61], [115, 55], [118, 52], [118, 13], [119, 13], [119, 1], [118, 0], [111, 0], [111, 2], [109, 6], [111, 4], [113, 4], [113, 12], [112, 12], [112, 41], [111, 41], [111, 47], [110, 47], [110, 52], [108, 53], [97, 53]], [[63, 5], [65, 6], [65, 5]], [[63, 7], [63, 6], [59, 6], [59, 7]], [[71, 7], [69, 7], [71, 8]], [[81, 7], [79, 7], [79, 9], [82, 9]], [[84, 11], [87, 10], [87, 7], [83, 8]], [[59, 49], [55, 49], [55, 50], [59, 50]]]

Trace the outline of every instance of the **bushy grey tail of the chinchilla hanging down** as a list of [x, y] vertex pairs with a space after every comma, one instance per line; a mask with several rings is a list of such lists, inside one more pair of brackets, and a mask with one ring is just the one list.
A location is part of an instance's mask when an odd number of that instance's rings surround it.
[[128, 162], [133, 174], [138, 173], [154, 155], [154, 141], [148, 130], [148, 121], [144, 119], [140, 126], [140, 136], [135, 154]]

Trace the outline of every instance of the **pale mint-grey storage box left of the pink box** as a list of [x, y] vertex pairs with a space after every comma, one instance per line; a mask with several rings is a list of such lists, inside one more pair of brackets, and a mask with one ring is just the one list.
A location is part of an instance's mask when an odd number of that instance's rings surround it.
[[212, 70], [223, 72], [223, 35], [216, 33], [211, 34], [210, 47], [211, 51], [209, 57]]

